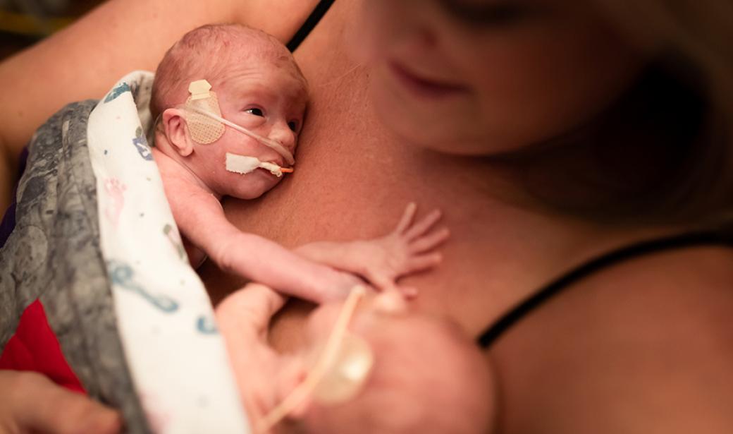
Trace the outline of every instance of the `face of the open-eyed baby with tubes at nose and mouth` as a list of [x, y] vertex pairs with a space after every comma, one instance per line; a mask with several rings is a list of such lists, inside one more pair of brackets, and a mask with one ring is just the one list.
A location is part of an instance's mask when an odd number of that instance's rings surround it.
[[[295, 66], [282, 61], [275, 65], [268, 59], [249, 59], [229, 68], [213, 84], [221, 116], [244, 128], [267, 137], [295, 153], [298, 134], [303, 126], [307, 90], [305, 81], [296, 75]], [[240, 131], [226, 127], [219, 140], [198, 145], [199, 162], [205, 164], [206, 184], [221, 195], [253, 199], [267, 192], [281, 180], [265, 169], [242, 175], [226, 170], [226, 153], [254, 156], [263, 162], [290, 167], [284, 157]]]

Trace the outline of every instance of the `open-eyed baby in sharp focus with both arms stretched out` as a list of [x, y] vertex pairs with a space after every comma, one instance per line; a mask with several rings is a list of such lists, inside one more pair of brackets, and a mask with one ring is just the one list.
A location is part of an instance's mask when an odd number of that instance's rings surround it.
[[412, 225], [414, 205], [388, 236], [295, 252], [226, 220], [223, 196], [258, 198], [292, 171], [307, 100], [292, 55], [264, 32], [202, 26], [166, 53], [152, 90], [152, 155], [191, 264], [205, 253], [224, 270], [316, 302], [345, 297], [356, 275], [394, 289], [401, 275], [435, 266], [432, 250], [448, 231], [432, 231], [438, 211]]

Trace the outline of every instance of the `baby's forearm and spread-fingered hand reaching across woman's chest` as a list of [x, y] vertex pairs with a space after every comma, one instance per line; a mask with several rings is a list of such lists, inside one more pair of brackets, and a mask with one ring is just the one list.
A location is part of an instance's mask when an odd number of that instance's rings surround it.
[[312, 261], [361, 275], [381, 289], [394, 289], [398, 278], [435, 267], [441, 261], [441, 253], [435, 252], [435, 247], [449, 236], [447, 228], [432, 231], [441, 218], [440, 211], [434, 210], [413, 224], [415, 211], [415, 204], [410, 203], [397, 227], [386, 236], [366, 241], [314, 242], [298, 247], [295, 252]]

